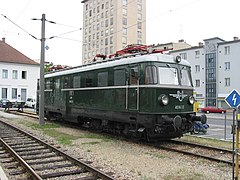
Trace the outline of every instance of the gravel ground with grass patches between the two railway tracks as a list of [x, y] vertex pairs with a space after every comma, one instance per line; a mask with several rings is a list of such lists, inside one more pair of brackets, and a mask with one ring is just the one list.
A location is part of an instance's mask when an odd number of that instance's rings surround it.
[[22, 129], [26, 129], [41, 139], [51, 142], [54, 146], [70, 155], [92, 162], [96, 168], [110, 173], [115, 179], [177, 179], [206, 180], [231, 179], [232, 168], [225, 164], [197, 159], [174, 152], [167, 152], [141, 144], [126, 142], [98, 135], [89, 137], [87, 131], [68, 127], [57, 127], [54, 131], [74, 136], [70, 145], [61, 145], [57, 138], [46, 135], [41, 129], [33, 129], [29, 124], [36, 123], [31, 118], [3, 118]]

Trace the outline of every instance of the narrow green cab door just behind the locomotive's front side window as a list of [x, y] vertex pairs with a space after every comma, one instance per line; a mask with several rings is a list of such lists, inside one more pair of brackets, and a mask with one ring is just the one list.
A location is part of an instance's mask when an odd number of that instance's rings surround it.
[[128, 86], [128, 110], [137, 111], [139, 109], [139, 67], [131, 66], [129, 72]]

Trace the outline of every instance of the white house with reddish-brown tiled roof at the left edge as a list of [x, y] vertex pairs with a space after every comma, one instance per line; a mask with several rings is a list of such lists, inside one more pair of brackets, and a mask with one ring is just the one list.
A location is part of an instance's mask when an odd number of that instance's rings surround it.
[[0, 99], [26, 101], [36, 97], [40, 65], [0, 41]]

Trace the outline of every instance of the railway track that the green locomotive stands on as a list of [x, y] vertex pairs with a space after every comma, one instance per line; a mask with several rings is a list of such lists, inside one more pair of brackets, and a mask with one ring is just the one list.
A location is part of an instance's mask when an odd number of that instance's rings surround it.
[[[28, 112], [15, 112], [14, 114], [24, 115], [28, 117], [37, 118], [36, 115]], [[164, 143], [146, 143], [149, 146], [155, 148], [164, 149], [167, 151], [173, 151], [182, 153], [189, 156], [208, 159], [211, 161], [226, 163], [232, 165], [232, 151], [228, 149], [206, 146], [196, 143], [185, 142], [181, 140], [171, 140]]]

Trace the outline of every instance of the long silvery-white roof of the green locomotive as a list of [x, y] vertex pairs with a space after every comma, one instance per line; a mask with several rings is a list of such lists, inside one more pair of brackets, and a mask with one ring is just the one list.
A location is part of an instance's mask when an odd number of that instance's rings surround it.
[[[53, 73], [49, 73], [45, 75], [45, 78], [67, 75], [67, 74], [74, 74], [78, 72], [108, 68], [108, 67], [116, 67], [121, 65], [130, 65], [142, 62], [164, 62], [164, 63], [173, 63], [175, 62], [175, 57], [172, 55], [166, 55], [161, 53], [156, 54], [146, 54], [146, 55], [139, 55], [131, 58], [121, 58], [121, 59], [109, 59], [104, 61], [98, 61], [88, 65], [77, 66], [74, 68], [65, 69], [62, 71], [57, 71]], [[190, 63], [184, 59], [181, 60], [179, 63], [181, 65], [190, 66]]]

